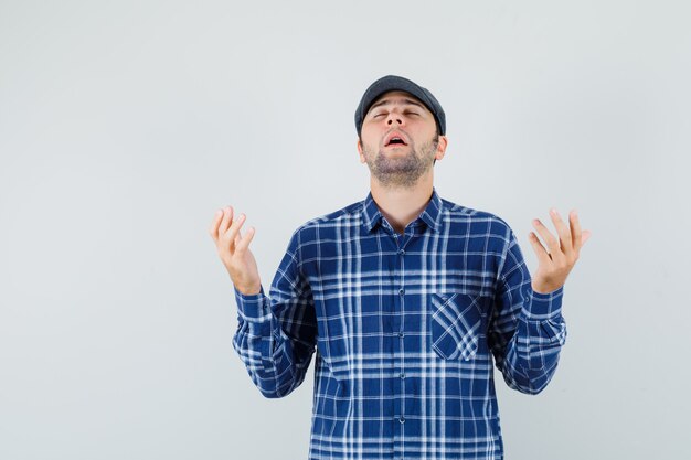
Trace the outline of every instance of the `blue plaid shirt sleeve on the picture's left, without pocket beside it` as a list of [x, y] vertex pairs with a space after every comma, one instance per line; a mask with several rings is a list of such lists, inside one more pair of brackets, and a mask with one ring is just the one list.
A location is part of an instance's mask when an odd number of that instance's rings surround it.
[[267, 398], [288, 395], [305, 379], [317, 343], [312, 292], [300, 271], [299, 232], [290, 238], [269, 290], [235, 290], [237, 330], [233, 349]]

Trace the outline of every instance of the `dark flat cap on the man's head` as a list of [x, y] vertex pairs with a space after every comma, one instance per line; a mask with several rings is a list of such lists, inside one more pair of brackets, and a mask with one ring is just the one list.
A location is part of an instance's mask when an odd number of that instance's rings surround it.
[[384, 93], [401, 90], [406, 92], [418, 98], [434, 115], [434, 119], [437, 121], [439, 128], [439, 135], [444, 136], [446, 132], [446, 115], [439, 101], [427, 90], [415, 82], [397, 75], [386, 75], [381, 77], [376, 82], [370, 85], [370, 87], [362, 95], [358, 109], [355, 110], [355, 129], [358, 136], [362, 131], [362, 121], [368, 114], [370, 106]]

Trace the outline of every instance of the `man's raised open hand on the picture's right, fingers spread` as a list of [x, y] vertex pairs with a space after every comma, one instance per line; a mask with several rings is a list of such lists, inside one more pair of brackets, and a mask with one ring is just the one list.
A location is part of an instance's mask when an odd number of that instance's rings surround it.
[[532, 288], [541, 293], [549, 293], [564, 286], [568, 272], [578, 259], [581, 248], [592, 235], [591, 231], [581, 231], [576, 210], [568, 213], [570, 227], [566, 227], [555, 208], [550, 211], [559, 238], [539, 218], [533, 220], [533, 226], [548, 247], [542, 246], [534, 232], [529, 237], [539, 260], [538, 270], [532, 277]]

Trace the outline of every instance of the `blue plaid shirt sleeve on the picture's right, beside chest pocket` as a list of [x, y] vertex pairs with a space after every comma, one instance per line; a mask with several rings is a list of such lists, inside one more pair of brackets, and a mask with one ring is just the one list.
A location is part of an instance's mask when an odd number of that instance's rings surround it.
[[538, 394], [552, 379], [566, 341], [563, 293], [563, 286], [548, 293], [533, 291], [530, 271], [509, 228], [489, 340], [497, 368], [511, 388]]

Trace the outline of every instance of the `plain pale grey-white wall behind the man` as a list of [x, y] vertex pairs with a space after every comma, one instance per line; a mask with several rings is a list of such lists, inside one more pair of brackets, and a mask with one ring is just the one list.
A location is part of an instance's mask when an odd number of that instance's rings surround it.
[[446, 110], [439, 194], [531, 270], [550, 206], [593, 232], [554, 379], [498, 375], [507, 459], [689, 458], [690, 13], [0, 1], [0, 458], [306, 459], [312, 367], [254, 387], [208, 229], [246, 213], [268, 287], [297, 226], [366, 196], [353, 114], [386, 74]]

